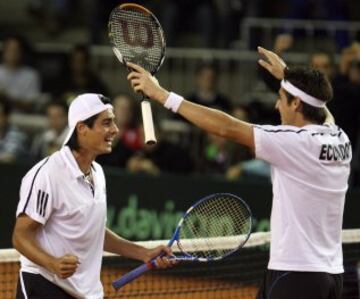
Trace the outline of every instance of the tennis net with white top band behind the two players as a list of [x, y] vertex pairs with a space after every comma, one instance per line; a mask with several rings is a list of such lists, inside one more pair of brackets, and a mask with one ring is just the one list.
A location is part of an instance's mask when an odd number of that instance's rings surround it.
[[[118, 291], [112, 288], [112, 281], [139, 263], [106, 254], [101, 273], [105, 298], [253, 299], [266, 268], [269, 239], [268, 233], [254, 233], [241, 251], [223, 260], [184, 263], [172, 269], [150, 271]], [[153, 247], [166, 244], [166, 241], [141, 244]], [[343, 251], [345, 274], [342, 298], [358, 299], [360, 229], [343, 231]], [[0, 299], [15, 298], [18, 260], [15, 250], [0, 251]]]

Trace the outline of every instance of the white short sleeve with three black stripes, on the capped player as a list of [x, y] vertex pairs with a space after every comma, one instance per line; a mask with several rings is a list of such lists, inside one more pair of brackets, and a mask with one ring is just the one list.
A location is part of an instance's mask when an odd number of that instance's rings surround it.
[[34, 167], [23, 178], [16, 211], [16, 217], [25, 213], [41, 224], [47, 222], [53, 207], [50, 179], [46, 175], [44, 164]]

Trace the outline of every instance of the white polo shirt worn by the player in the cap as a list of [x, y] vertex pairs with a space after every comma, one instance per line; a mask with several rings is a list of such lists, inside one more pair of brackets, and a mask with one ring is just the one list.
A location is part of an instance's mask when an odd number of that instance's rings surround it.
[[60, 279], [21, 256], [21, 271], [39, 273], [76, 298], [103, 298], [100, 282], [106, 222], [103, 170], [92, 163], [94, 194], [70, 151], [60, 151], [37, 163], [23, 178], [16, 215], [25, 213], [43, 224], [36, 238], [49, 254], [74, 254], [76, 272]]

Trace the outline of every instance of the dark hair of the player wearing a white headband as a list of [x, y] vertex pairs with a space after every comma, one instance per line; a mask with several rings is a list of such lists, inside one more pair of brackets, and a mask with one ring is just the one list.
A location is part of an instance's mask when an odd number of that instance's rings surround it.
[[[286, 68], [284, 80], [301, 89], [308, 95], [313, 96], [325, 103], [331, 101], [333, 89], [328, 78], [322, 72], [309, 67]], [[294, 95], [285, 91], [287, 101], [290, 104], [294, 100]], [[311, 106], [302, 101], [302, 114], [304, 118], [317, 124], [323, 124], [326, 113], [323, 108]]]

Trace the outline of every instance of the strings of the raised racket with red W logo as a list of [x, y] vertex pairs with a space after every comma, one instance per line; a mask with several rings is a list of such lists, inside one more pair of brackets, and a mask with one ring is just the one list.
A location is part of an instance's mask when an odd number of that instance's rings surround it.
[[165, 54], [165, 38], [153, 14], [138, 6], [116, 7], [108, 27], [110, 41], [125, 61], [134, 62], [151, 74], [157, 72]]

